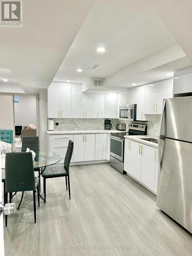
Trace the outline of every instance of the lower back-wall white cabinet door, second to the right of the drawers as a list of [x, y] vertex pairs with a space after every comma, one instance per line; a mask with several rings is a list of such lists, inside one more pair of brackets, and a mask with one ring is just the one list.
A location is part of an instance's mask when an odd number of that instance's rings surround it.
[[84, 161], [95, 160], [95, 134], [84, 135]]

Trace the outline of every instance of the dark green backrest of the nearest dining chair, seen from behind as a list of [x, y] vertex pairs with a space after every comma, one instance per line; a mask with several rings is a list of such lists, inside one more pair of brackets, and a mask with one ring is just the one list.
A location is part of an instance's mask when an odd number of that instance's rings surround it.
[[30, 152], [6, 154], [5, 190], [6, 193], [35, 190], [33, 159]]

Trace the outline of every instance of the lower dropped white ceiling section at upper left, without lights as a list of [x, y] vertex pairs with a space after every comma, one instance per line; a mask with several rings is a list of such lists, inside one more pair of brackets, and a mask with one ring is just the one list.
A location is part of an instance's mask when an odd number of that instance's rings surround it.
[[0, 28], [0, 68], [26, 92], [47, 88], [94, 0], [23, 1], [23, 27]]

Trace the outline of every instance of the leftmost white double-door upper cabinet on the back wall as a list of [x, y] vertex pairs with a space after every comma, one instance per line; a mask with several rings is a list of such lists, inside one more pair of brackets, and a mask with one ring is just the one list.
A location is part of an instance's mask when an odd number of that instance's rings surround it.
[[71, 117], [71, 83], [51, 83], [48, 88], [48, 117]]

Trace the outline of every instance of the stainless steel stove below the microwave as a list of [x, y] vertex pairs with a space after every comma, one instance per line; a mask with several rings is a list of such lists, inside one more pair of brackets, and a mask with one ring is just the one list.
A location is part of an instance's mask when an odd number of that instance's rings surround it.
[[124, 174], [124, 136], [126, 135], [146, 135], [147, 125], [130, 123], [128, 132], [111, 133], [110, 164], [120, 173]]

